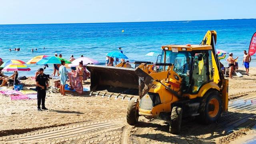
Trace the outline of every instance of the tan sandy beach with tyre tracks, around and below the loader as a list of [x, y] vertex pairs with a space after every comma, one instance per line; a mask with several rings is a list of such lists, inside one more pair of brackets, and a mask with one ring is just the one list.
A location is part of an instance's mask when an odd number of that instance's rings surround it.
[[[240, 72], [244, 74], [243, 70], [240, 70]], [[27, 88], [34, 88], [35, 86], [34, 80], [31, 78], [22, 80], [22, 83], [25, 83]], [[86, 82], [84, 87], [88, 87], [89, 84], [89, 82]], [[255, 99], [255, 85], [256, 68], [250, 68], [249, 76], [241, 78], [234, 76], [234, 79], [229, 81], [230, 99], [248, 98], [249, 96]], [[76, 92], [67, 93], [67, 96], [61, 96], [60, 93], [51, 93], [47, 94], [46, 97], [46, 107], [49, 110], [42, 112], [38, 112], [36, 102], [37, 100], [10, 100], [9, 96], [0, 95], [0, 143], [22, 143], [23, 140], [19, 138], [26, 138], [28, 134], [34, 134], [35, 136], [40, 133], [44, 134], [44, 131], [48, 132], [49, 130], [51, 132], [54, 128], [56, 130], [59, 130], [58, 128], [69, 130], [68, 128], [74, 125], [86, 126], [103, 123], [109, 124], [109, 127], [92, 132], [88, 131], [88, 127], [85, 127], [88, 132], [84, 132], [81, 129], [81, 135], [76, 136], [75, 133], [72, 135], [75, 138], [72, 137], [72, 139], [70, 139], [70, 136], [52, 139], [48, 139], [47, 136], [46, 138], [39, 136], [36, 139], [24, 139], [24, 143], [223, 143], [224, 141], [229, 143], [236, 138], [245, 137], [246, 134], [254, 134], [250, 127], [256, 124], [256, 109], [237, 111], [229, 108], [230, 112], [225, 113], [226, 115], [224, 114], [221, 118], [224, 123], [225, 121], [230, 121], [231, 123], [235, 121], [232, 118], [238, 120], [250, 114], [250, 117], [248, 117], [250, 126], [239, 123], [240, 125], [237, 124], [232, 127], [234, 132], [238, 129], [249, 127], [249, 129], [245, 130], [246, 132], [242, 132], [242, 134], [238, 132], [234, 136], [234, 133], [224, 131], [225, 127], [222, 126], [218, 131], [218, 124], [223, 122], [202, 126], [198, 123], [193, 124], [193, 120], [184, 120], [181, 134], [173, 135], [168, 132], [166, 122], [160, 120], [147, 120], [140, 117], [138, 126], [128, 125], [126, 123], [127, 100], [89, 96], [89, 92], [85, 92], [83, 95]], [[226, 117], [228, 117], [228, 120], [225, 120]], [[98, 128], [102, 125], [97, 126], [93, 127]], [[196, 129], [200, 129], [203, 132], [199, 132]], [[49, 136], [53, 135], [50, 134]]]

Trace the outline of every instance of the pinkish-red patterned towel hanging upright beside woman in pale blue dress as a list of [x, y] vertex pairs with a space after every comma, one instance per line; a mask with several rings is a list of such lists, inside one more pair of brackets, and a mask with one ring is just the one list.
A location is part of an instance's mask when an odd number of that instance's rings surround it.
[[82, 94], [82, 85], [77, 72], [68, 72], [68, 78], [70, 80], [70, 85], [78, 92]]

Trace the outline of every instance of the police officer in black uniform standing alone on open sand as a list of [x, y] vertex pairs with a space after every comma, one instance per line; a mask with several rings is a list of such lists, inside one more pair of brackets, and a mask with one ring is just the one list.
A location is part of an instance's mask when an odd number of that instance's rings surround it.
[[42, 109], [43, 110], [48, 110], [45, 105], [45, 96], [46, 96], [46, 88], [49, 86], [49, 79], [44, 74], [44, 69], [39, 68], [39, 74], [36, 76], [36, 90], [37, 90], [37, 108], [38, 111], [42, 111], [40, 108], [41, 105], [41, 100], [42, 100]]

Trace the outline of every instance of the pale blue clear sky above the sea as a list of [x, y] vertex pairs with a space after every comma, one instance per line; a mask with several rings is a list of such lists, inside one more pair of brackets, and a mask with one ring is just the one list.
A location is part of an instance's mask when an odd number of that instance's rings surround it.
[[256, 18], [256, 0], [0, 0], [0, 24]]

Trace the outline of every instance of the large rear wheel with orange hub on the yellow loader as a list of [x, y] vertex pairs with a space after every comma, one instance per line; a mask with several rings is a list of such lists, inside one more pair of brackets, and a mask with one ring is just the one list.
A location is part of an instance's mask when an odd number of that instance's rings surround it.
[[222, 111], [222, 101], [217, 91], [210, 91], [205, 94], [200, 104], [199, 120], [204, 124], [216, 122]]

